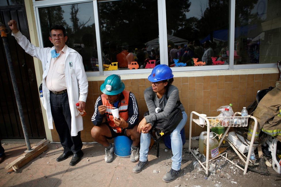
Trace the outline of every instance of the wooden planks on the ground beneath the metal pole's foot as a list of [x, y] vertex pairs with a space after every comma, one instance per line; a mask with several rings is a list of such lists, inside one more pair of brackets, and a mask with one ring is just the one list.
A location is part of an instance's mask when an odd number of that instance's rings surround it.
[[42, 140], [39, 143], [37, 143], [35, 146], [32, 147], [33, 151], [23, 153], [20, 155], [16, 160], [12, 161], [8, 165], [6, 165], [5, 169], [9, 169], [12, 166], [17, 166], [18, 168], [24, 166], [28, 162], [30, 162], [32, 159], [43, 153], [48, 149], [48, 146], [45, 144], [46, 142], [49, 142], [48, 140]]

